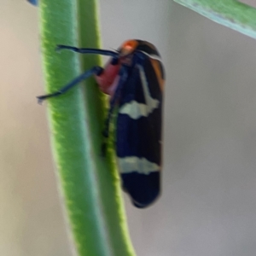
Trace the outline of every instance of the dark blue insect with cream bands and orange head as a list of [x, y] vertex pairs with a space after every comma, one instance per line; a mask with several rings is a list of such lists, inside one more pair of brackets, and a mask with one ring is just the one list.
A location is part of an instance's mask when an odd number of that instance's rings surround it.
[[108, 118], [103, 136], [108, 138], [113, 111], [116, 154], [122, 187], [135, 207], [148, 207], [160, 195], [161, 124], [164, 68], [153, 44], [128, 40], [116, 51], [79, 49], [58, 45], [81, 54], [111, 56], [107, 65], [92, 67], [52, 94], [38, 96], [38, 101], [60, 96], [81, 80], [95, 75], [102, 92], [110, 96]]

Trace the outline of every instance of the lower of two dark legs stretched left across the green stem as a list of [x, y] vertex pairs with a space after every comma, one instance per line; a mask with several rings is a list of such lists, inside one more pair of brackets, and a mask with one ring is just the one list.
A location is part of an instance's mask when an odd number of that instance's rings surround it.
[[60, 90], [57, 90], [57, 91], [55, 91], [53, 93], [50, 93], [50, 94], [47, 94], [47, 95], [37, 96], [38, 103], [41, 103], [45, 99], [48, 99], [48, 98], [51, 98], [51, 97], [60, 96], [61, 94], [64, 94], [65, 92], [67, 92], [67, 90], [72, 89], [73, 86], [75, 86], [76, 84], [79, 84], [79, 82], [81, 82], [82, 80], [88, 79], [93, 74], [100, 75], [102, 73], [102, 71], [103, 71], [102, 67], [97, 67], [97, 66], [92, 67], [89, 70], [87, 70], [86, 72], [79, 75], [79, 77], [77, 77], [76, 79], [73, 79], [70, 83], [66, 84]]

